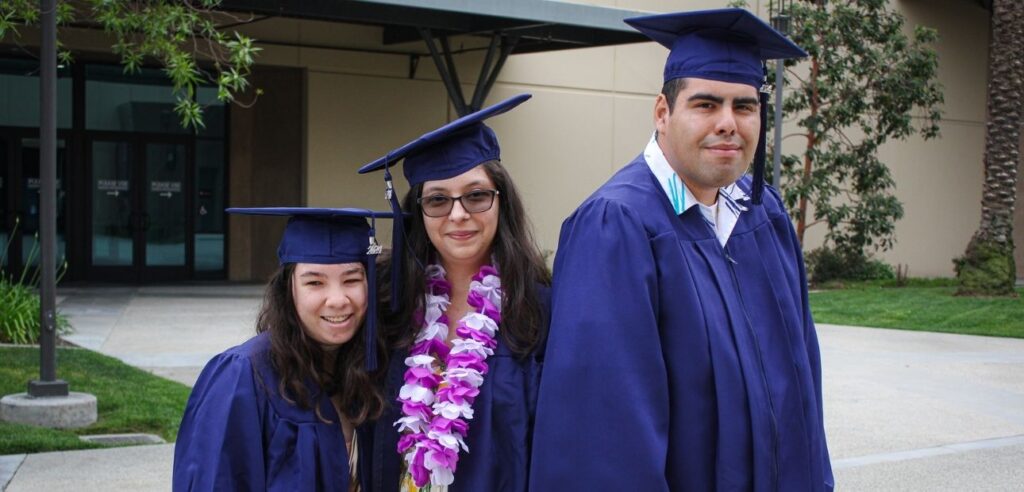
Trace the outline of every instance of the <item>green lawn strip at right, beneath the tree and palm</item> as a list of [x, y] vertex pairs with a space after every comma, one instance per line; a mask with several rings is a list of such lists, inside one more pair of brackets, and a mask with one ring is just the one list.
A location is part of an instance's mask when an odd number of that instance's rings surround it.
[[811, 292], [817, 323], [1024, 338], [1024, 289], [1017, 298], [957, 297], [947, 279], [848, 284]]

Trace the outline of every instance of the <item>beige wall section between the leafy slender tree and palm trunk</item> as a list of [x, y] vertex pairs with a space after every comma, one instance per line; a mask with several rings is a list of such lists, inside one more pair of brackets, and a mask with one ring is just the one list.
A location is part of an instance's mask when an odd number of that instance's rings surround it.
[[988, 12], [963, 0], [894, 3], [908, 29], [923, 25], [939, 31], [945, 105], [939, 138], [892, 142], [882, 151], [905, 212], [896, 246], [882, 258], [908, 264], [911, 276], [950, 277], [952, 259], [964, 254], [981, 219]]

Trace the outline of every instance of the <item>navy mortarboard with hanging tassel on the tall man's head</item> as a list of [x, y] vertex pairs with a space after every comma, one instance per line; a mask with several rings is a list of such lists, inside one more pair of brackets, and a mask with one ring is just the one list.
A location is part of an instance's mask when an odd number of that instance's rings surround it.
[[768, 131], [766, 59], [807, 56], [757, 15], [741, 8], [663, 13], [627, 18], [648, 38], [669, 48], [665, 82], [683, 77], [746, 84], [758, 89], [761, 100], [761, 135], [754, 154], [751, 201], [761, 204], [764, 194], [765, 145]]

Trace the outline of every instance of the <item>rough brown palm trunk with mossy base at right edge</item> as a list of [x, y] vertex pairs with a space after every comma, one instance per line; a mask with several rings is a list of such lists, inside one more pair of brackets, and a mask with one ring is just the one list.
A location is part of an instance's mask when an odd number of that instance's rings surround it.
[[1014, 206], [1024, 122], [1024, 2], [994, 0], [981, 224], [956, 258], [959, 294], [1016, 295]]

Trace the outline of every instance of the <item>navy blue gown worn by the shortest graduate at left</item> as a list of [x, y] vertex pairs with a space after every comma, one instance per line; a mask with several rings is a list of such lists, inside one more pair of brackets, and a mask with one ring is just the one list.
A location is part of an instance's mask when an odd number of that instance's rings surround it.
[[[325, 423], [281, 398], [268, 351], [263, 333], [203, 369], [174, 446], [173, 490], [348, 491], [348, 453], [334, 406], [319, 399], [333, 422]], [[356, 439], [360, 450], [370, 449], [371, 432], [359, 429]], [[359, 452], [358, 464], [370, 491], [369, 453]]]

